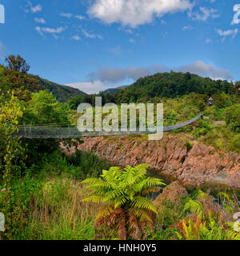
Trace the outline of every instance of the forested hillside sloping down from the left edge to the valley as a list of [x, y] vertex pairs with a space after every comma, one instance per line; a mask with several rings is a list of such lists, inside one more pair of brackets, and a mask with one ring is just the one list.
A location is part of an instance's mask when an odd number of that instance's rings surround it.
[[22, 99], [27, 97], [27, 94], [22, 93], [24, 90], [29, 90], [30, 93], [47, 90], [53, 93], [59, 102], [66, 102], [69, 98], [85, 94], [81, 90], [74, 89], [70, 86], [61, 86], [36, 75], [9, 70], [2, 65], [0, 65], [0, 88], [4, 91], [18, 90], [19, 98], [22, 95]]

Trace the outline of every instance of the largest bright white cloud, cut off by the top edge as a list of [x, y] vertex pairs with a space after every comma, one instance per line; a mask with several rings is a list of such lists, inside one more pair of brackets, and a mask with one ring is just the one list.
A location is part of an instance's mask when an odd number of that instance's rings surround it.
[[188, 10], [190, 0], [94, 0], [88, 14], [105, 23], [119, 22], [136, 27], [153, 21], [154, 16]]

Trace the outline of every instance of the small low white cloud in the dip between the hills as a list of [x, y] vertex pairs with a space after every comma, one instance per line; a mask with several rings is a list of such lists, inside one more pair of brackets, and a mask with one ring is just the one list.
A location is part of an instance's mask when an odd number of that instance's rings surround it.
[[101, 81], [92, 81], [92, 82], [73, 82], [67, 83], [65, 86], [71, 86], [77, 88], [78, 90], [82, 90], [86, 94], [97, 94], [101, 90], [108, 89], [107, 86], [104, 85]]

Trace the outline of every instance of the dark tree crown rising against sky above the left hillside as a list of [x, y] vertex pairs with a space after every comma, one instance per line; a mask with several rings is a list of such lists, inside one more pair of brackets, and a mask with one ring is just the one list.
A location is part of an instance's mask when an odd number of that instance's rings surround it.
[[30, 70], [30, 65], [26, 63], [26, 60], [20, 55], [15, 56], [11, 54], [5, 58], [5, 62], [7, 63], [6, 68], [9, 70], [15, 70], [23, 73]]

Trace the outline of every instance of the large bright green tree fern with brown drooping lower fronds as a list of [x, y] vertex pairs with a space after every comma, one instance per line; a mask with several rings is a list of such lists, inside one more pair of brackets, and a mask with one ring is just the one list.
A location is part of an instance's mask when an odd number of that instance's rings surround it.
[[106, 202], [96, 217], [97, 227], [102, 224], [118, 227], [120, 239], [126, 239], [128, 235], [139, 239], [146, 235], [146, 225], [152, 224], [150, 213], [158, 212], [145, 195], [156, 191], [156, 186], [165, 185], [158, 178], [146, 178], [146, 169], [146, 165], [124, 169], [111, 167], [102, 171], [101, 178], [88, 178], [82, 182], [93, 191], [84, 201]]

